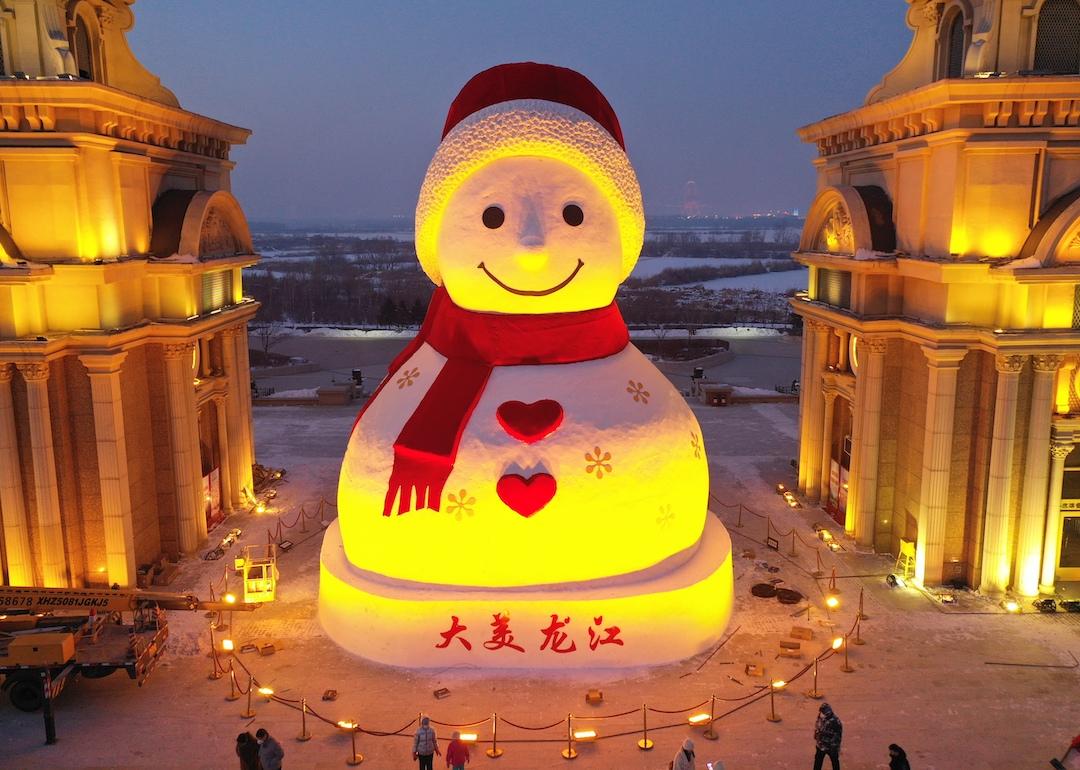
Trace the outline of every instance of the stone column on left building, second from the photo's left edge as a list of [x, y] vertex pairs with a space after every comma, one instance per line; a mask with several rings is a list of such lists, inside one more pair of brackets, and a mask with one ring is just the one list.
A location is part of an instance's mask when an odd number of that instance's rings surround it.
[[38, 508], [38, 541], [41, 549], [41, 579], [45, 587], [67, 587], [67, 558], [60, 497], [56, 485], [53, 424], [49, 410], [49, 364], [16, 364], [26, 380], [27, 411], [30, 418], [30, 449], [33, 455], [33, 494]]

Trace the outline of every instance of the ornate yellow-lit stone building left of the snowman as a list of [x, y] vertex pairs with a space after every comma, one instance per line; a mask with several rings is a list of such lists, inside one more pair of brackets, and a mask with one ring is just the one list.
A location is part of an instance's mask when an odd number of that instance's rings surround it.
[[0, 565], [133, 585], [252, 485], [244, 129], [135, 60], [131, 0], [0, 0]]

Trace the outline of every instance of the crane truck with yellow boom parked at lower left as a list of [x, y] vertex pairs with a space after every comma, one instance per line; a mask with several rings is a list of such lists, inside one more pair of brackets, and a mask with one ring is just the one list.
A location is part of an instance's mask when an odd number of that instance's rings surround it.
[[43, 708], [45, 743], [55, 743], [53, 701], [77, 676], [93, 679], [123, 670], [143, 686], [165, 651], [165, 610], [258, 606], [136, 589], [0, 585], [0, 690], [21, 711]]

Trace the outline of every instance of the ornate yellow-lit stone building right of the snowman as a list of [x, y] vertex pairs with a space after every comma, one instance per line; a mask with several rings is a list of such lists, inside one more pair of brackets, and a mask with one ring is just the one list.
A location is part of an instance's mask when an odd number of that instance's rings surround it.
[[818, 194], [799, 486], [916, 579], [1080, 579], [1080, 2], [908, 0]]

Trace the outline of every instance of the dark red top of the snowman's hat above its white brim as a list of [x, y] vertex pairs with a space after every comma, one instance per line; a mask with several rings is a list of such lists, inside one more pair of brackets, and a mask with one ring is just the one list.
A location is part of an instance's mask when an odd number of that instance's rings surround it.
[[536, 62], [500, 64], [474, 75], [458, 92], [446, 113], [443, 138], [473, 112], [514, 99], [543, 99], [581, 110], [626, 149], [619, 118], [589, 78], [566, 67]]

